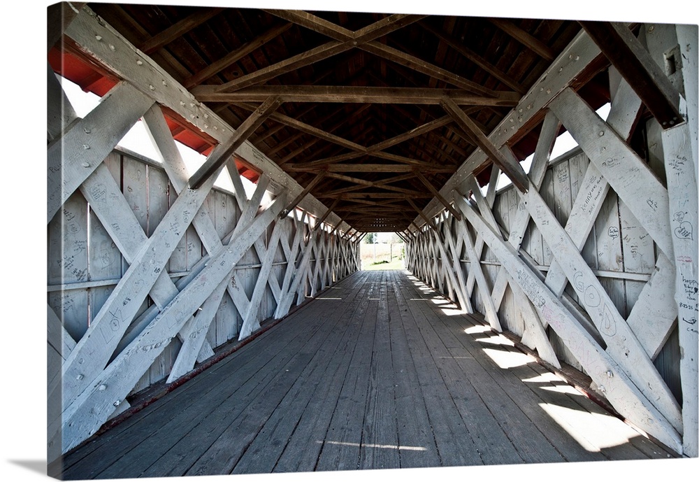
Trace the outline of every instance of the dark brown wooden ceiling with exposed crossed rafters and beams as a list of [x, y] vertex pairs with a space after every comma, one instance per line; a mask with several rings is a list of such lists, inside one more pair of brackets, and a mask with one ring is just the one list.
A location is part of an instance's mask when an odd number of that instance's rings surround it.
[[[489, 134], [580, 30], [565, 20], [89, 7], [234, 128], [278, 96], [250, 141], [360, 232], [407, 229], [476, 148], [443, 99]], [[521, 142], [519, 154], [533, 150]]]

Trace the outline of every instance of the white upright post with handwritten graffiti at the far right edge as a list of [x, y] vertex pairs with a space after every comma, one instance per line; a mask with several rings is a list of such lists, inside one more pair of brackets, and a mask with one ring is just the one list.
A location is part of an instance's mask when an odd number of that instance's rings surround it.
[[[666, 129], [661, 135], [655, 132], [649, 144], [662, 146], [665, 178], [670, 198], [670, 238], [675, 265], [675, 300], [677, 302], [677, 326], [679, 334], [679, 376], [682, 379], [682, 414], [684, 423], [684, 454], [696, 457], [698, 441], [698, 329], [697, 311], [697, 241], [698, 211], [697, 183], [699, 178], [699, 153], [697, 150], [697, 78], [699, 59], [696, 55], [698, 30], [696, 25], [652, 24], [646, 29], [646, 41], [653, 62], [663, 66], [669, 48], [677, 49], [673, 55], [682, 62], [672, 74], [668, 73], [674, 89], [679, 90], [682, 124]], [[686, 102], [686, 104], [685, 104]], [[667, 126], [662, 126], [666, 128]], [[676, 363], [676, 362], [675, 362]]]

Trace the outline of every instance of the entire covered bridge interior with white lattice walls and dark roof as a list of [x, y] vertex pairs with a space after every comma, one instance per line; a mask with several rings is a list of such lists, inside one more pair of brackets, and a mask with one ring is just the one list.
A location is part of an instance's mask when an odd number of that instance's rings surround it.
[[[52, 474], [698, 456], [696, 25], [72, 2], [48, 19]], [[80, 118], [59, 78], [99, 105]], [[117, 146], [138, 122], [157, 159]], [[564, 133], [577, 147], [554, 157]], [[188, 167], [178, 143], [206, 159]], [[401, 236], [405, 271], [361, 270], [369, 232]], [[484, 362], [485, 335], [535, 368]], [[175, 437], [172, 407], [221, 404], [206, 384], [226, 369], [296, 371], [236, 403], [293, 388], [310, 410], [333, 364], [369, 401], [337, 408], [343, 378], [313, 460], [302, 415], [264, 439], [281, 419], [240, 408], [187, 463], [184, 435], [147, 463], [133, 449]], [[633, 427], [633, 455], [542, 429], [556, 416], [521, 383], [549, 376]], [[477, 440], [484, 417], [502, 438]]]

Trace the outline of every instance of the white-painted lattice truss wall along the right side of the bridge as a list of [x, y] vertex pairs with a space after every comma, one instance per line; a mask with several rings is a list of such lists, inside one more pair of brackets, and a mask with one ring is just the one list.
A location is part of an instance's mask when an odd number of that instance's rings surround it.
[[[514, 134], [532, 107], [545, 111], [529, 189], [496, 193], [495, 167], [482, 194], [473, 176], [457, 173], [441, 193], [458, 212], [421, 213], [421, 227], [404, 233], [407, 267], [462, 309], [484, 313], [492, 329], [521, 336], [543, 360], [584, 370], [630, 423], [696, 457], [696, 27], [644, 31], [658, 62], [668, 46], [686, 47], [684, 77], [677, 71], [671, 80], [688, 120], [665, 130], [649, 121], [656, 165], [626, 142], [642, 106], [626, 80], [616, 76], [606, 122], [569, 87], [583, 68], [575, 62], [596, 48], [579, 36], [489, 136], [512, 158], [508, 129]], [[549, 162], [561, 124], [580, 149]], [[663, 356], [674, 356], [682, 406], [654, 364], [666, 344], [672, 350], [672, 336], [677, 353]]]

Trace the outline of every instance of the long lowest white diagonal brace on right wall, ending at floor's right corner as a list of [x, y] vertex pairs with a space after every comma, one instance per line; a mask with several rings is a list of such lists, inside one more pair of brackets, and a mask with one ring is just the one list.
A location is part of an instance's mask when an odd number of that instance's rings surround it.
[[679, 434], [668, 423], [665, 416], [649, 403], [635, 384], [630, 381], [624, 369], [621, 369], [617, 362], [610, 355], [607, 355], [596, 341], [577, 324], [542, 281], [531, 274], [531, 271], [519, 259], [509, 243], [499, 239], [499, 236], [465, 201], [458, 204], [463, 215], [478, 231], [482, 232], [486, 243], [491, 246], [493, 251], [496, 251], [498, 258], [503, 260], [503, 265], [507, 268], [510, 276], [517, 280], [540, 316], [556, 329], [556, 333], [561, 336], [589, 376], [603, 388], [605, 397], [614, 408], [642, 430], [653, 434], [663, 444], [678, 451], [682, 446]]

